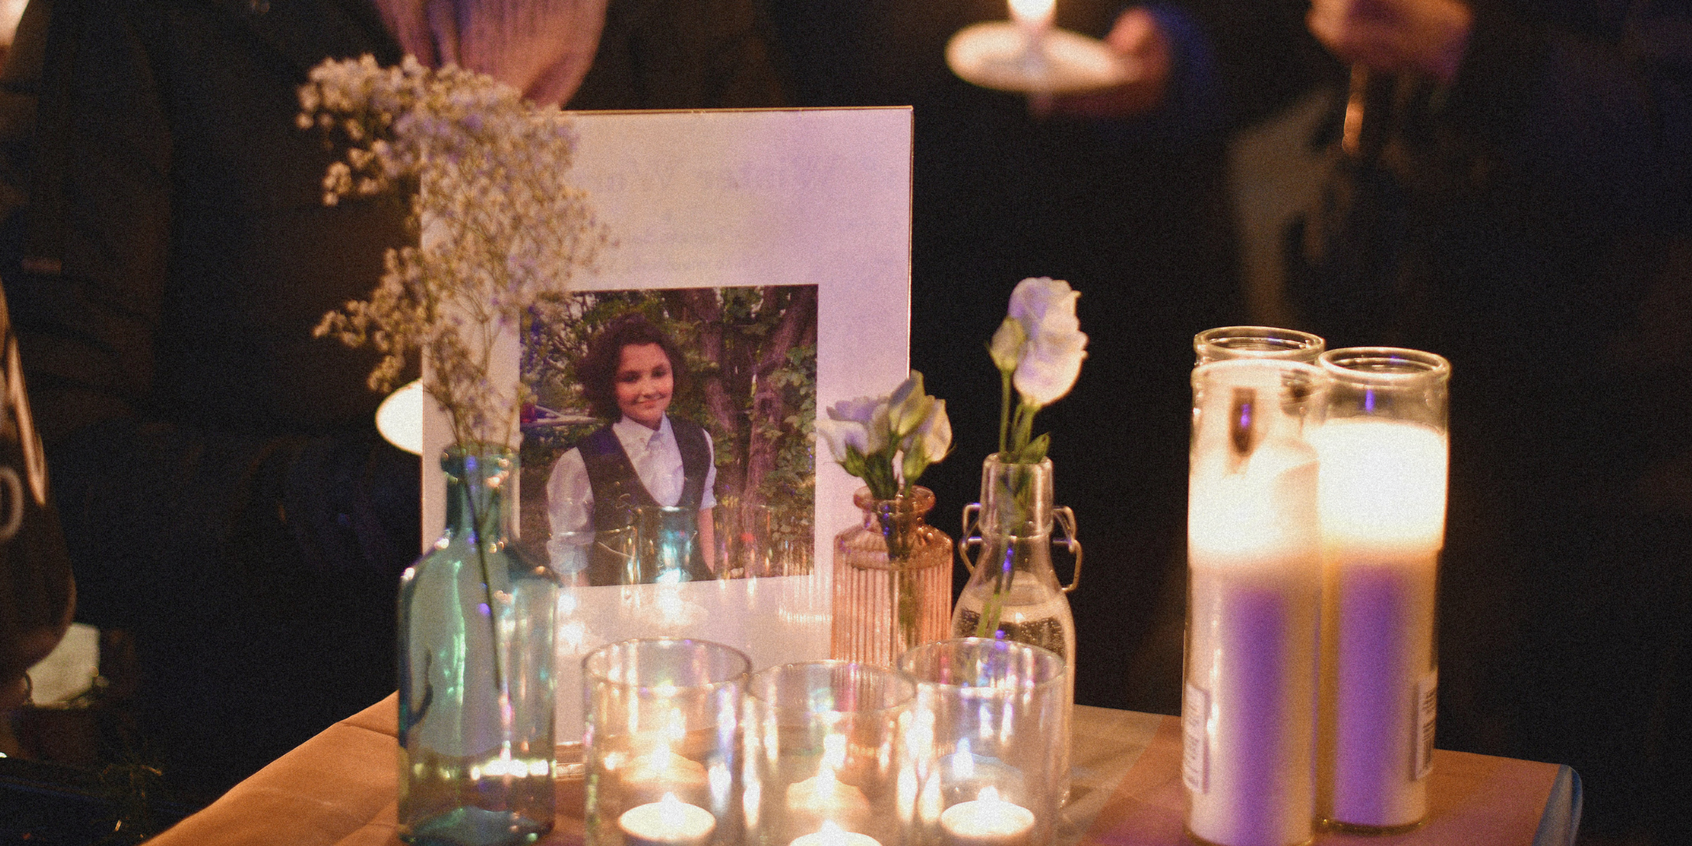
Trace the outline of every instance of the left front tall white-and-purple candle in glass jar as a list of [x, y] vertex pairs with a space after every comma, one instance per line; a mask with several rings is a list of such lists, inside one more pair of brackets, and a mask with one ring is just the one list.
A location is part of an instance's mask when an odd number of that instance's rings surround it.
[[1321, 548], [1316, 453], [1301, 435], [1325, 379], [1228, 360], [1193, 386], [1186, 824], [1220, 846], [1291, 846], [1311, 839], [1316, 809]]

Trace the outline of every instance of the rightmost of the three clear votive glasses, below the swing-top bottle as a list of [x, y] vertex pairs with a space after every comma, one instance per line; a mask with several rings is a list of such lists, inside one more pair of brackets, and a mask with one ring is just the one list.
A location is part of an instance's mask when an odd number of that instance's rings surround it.
[[946, 640], [898, 658], [917, 685], [900, 782], [907, 843], [1044, 846], [1068, 783], [1064, 660], [992, 638]]

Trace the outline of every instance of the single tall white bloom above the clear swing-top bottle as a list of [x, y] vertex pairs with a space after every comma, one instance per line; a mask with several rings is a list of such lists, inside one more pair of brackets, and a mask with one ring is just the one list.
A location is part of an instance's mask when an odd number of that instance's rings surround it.
[[1046, 276], [1024, 279], [1012, 291], [1010, 316], [1027, 333], [1014, 377], [1024, 404], [1049, 406], [1068, 394], [1081, 376], [1086, 335], [1074, 316], [1079, 296], [1069, 283]]

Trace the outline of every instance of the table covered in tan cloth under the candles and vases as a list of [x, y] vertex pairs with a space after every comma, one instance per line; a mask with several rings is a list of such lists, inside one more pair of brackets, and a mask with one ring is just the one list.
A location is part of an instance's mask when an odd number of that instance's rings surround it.
[[[154, 846], [393, 846], [398, 699], [347, 717], [259, 770]], [[1071, 800], [1058, 843], [1164, 846], [1181, 832], [1181, 722], [1076, 706]], [[1428, 824], [1408, 834], [1321, 834], [1318, 846], [1572, 846], [1580, 778], [1568, 766], [1460, 751], [1433, 753]], [[557, 827], [543, 844], [582, 843], [582, 782], [558, 782]]]

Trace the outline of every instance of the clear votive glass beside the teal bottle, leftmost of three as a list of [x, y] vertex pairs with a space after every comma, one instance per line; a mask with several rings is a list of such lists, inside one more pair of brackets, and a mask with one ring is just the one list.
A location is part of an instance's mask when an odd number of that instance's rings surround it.
[[746, 655], [702, 640], [626, 640], [589, 653], [582, 675], [587, 843], [738, 844]]

